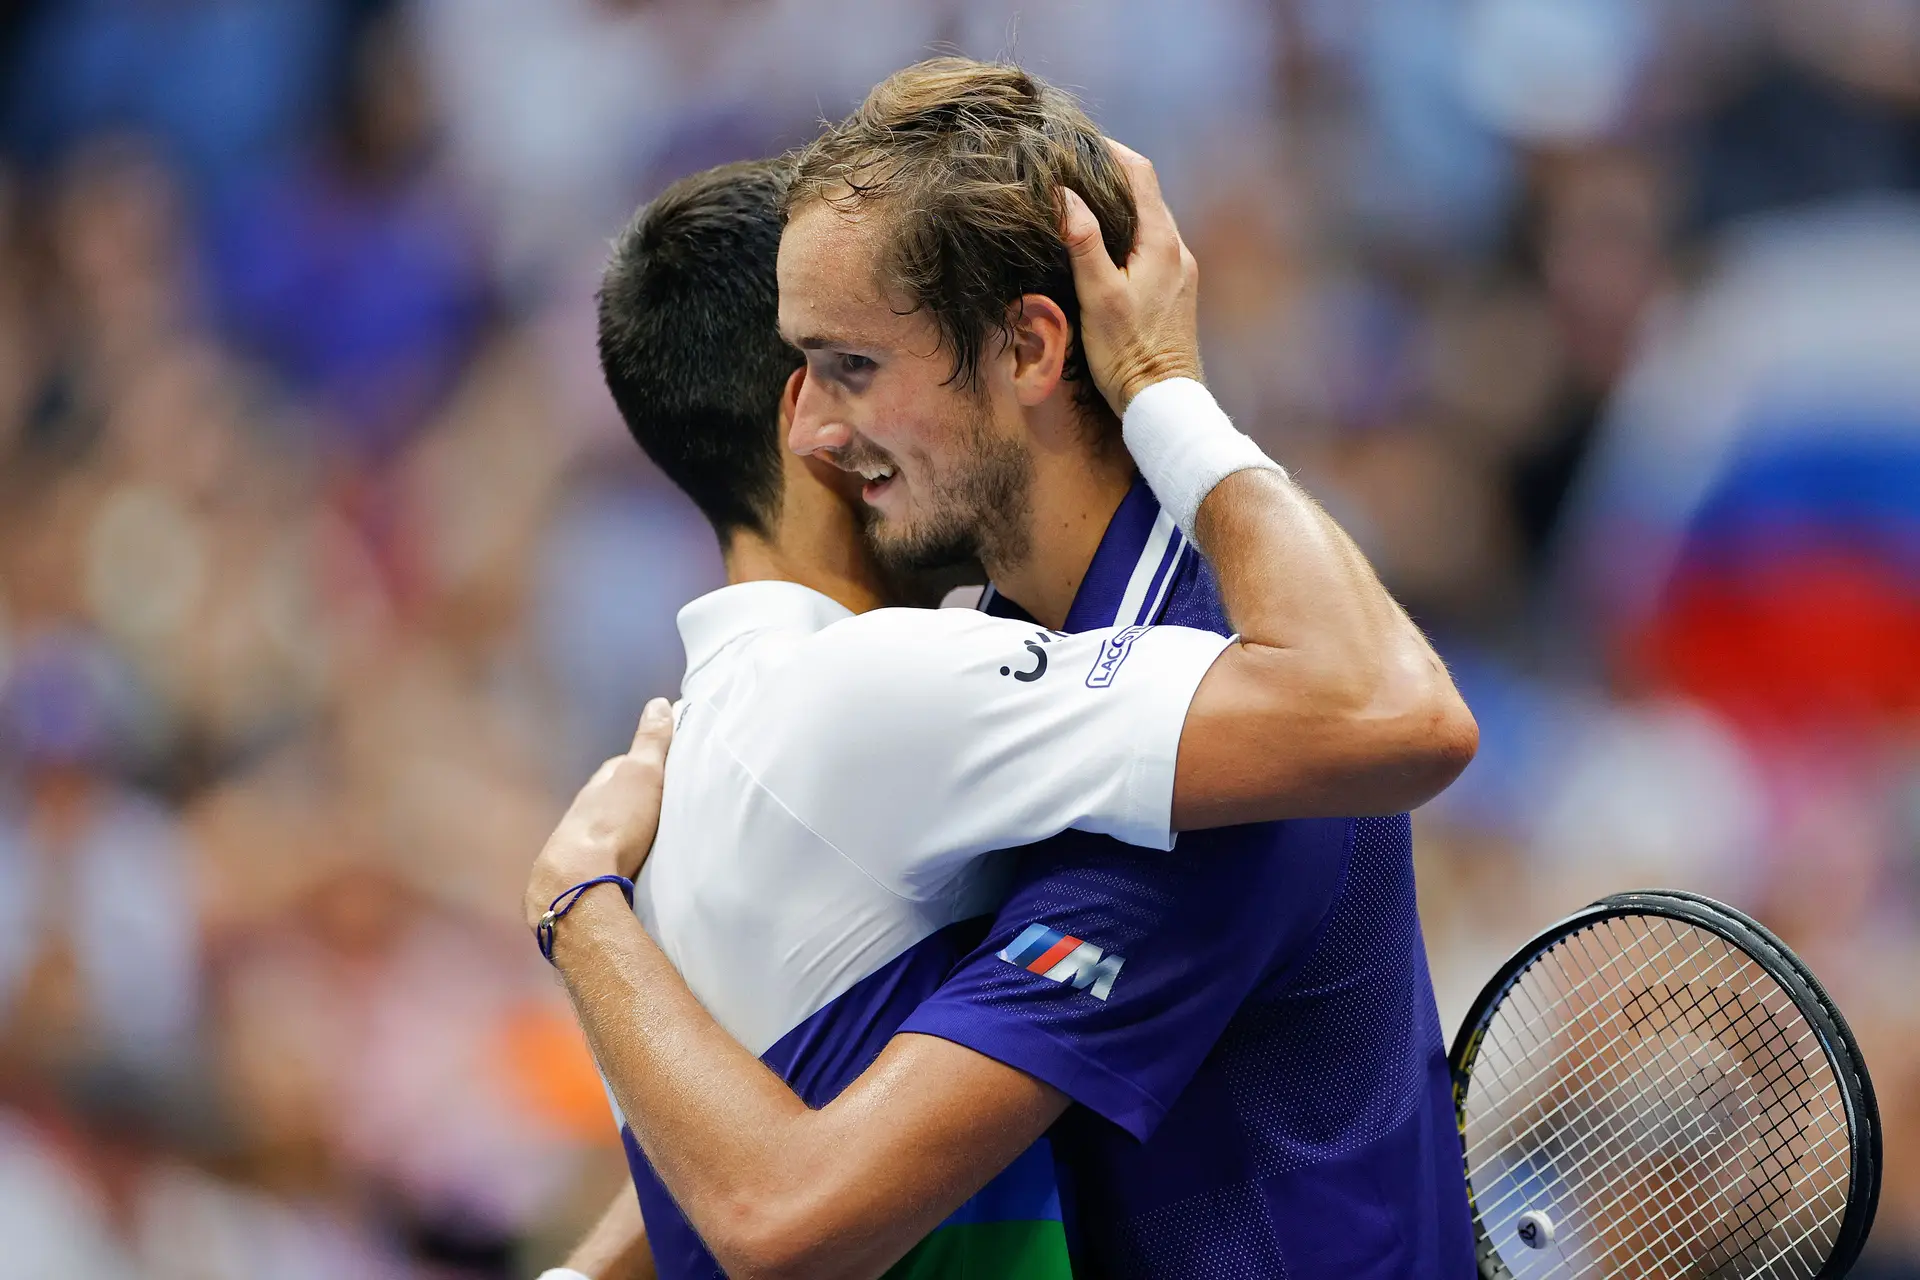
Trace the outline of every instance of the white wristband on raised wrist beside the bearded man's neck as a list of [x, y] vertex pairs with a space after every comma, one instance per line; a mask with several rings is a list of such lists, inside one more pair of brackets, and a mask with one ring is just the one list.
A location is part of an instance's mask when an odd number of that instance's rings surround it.
[[1254, 468], [1286, 474], [1192, 378], [1167, 378], [1135, 395], [1119, 434], [1154, 497], [1188, 539], [1200, 503], [1221, 480]]

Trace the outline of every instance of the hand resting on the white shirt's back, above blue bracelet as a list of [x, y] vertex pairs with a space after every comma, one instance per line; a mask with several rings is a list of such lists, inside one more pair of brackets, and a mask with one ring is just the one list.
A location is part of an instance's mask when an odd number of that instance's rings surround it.
[[574, 796], [561, 825], [547, 837], [526, 883], [526, 923], [534, 927], [563, 892], [595, 875], [634, 879], [660, 825], [666, 748], [674, 741], [674, 708], [653, 699], [641, 712], [634, 745], [607, 760]]

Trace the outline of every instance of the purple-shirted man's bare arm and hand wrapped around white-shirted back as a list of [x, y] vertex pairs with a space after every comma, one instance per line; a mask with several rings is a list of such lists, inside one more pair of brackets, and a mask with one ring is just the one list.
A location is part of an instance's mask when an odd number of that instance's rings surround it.
[[[632, 875], [653, 842], [672, 716], [651, 704], [547, 841], [528, 921], [568, 885]], [[553, 961], [634, 1136], [733, 1276], [877, 1276], [1066, 1109], [973, 1050], [895, 1036], [810, 1109], [701, 1007], [609, 887], [559, 923]]]

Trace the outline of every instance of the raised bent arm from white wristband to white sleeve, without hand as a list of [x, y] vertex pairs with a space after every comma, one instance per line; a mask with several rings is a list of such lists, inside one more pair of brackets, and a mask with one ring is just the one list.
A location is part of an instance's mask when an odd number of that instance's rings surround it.
[[[1427, 637], [1196, 384], [1152, 395], [1146, 416], [1129, 411], [1129, 445], [1156, 493], [1175, 493], [1240, 637], [1188, 710], [1175, 825], [1398, 814], [1432, 798], [1478, 731]], [[1181, 439], [1190, 455], [1173, 449]]]

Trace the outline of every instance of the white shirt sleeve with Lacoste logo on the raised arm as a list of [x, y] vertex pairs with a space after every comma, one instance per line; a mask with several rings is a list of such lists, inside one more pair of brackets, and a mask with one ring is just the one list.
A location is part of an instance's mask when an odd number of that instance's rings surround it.
[[1069, 827], [1171, 848], [1187, 706], [1227, 645], [883, 608], [770, 662], [728, 739], [816, 835], [927, 898], [973, 856]]

